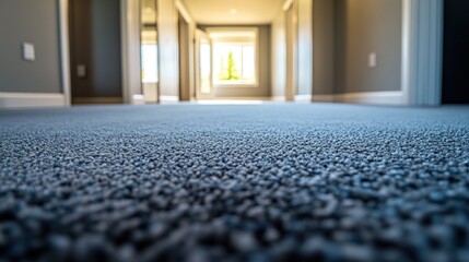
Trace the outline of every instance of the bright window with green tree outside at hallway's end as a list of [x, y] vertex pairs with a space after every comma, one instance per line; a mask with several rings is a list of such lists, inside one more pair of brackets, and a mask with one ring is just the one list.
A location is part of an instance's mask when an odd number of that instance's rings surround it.
[[215, 86], [257, 86], [257, 28], [209, 29]]

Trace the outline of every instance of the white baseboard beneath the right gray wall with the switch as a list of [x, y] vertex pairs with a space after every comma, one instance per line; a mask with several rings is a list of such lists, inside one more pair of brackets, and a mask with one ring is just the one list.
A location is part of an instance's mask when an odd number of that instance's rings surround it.
[[313, 95], [313, 102], [339, 102], [373, 105], [404, 105], [404, 95], [400, 91], [363, 92], [333, 95]]

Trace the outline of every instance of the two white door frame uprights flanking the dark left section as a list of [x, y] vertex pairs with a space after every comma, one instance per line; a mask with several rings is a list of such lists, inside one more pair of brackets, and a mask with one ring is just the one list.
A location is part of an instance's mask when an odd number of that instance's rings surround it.
[[[71, 105], [69, 0], [59, 0], [60, 74], [65, 105]], [[120, 0], [121, 85], [124, 103], [143, 102], [140, 70], [140, 1]]]

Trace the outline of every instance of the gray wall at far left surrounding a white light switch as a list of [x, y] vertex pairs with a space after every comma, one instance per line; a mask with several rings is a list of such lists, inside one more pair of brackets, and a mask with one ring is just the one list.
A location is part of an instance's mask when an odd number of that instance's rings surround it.
[[[61, 92], [58, 21], [56, 0], [0, 0], [0, 92]], [[24, 41], [35, 61], [23, 61]]]

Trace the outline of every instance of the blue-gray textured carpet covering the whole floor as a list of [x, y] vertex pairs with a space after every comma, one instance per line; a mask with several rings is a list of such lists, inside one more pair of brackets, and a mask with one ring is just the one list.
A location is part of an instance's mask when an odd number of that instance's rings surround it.
[[468, 261], [469, 108], [0, 111], [0, 261]]

